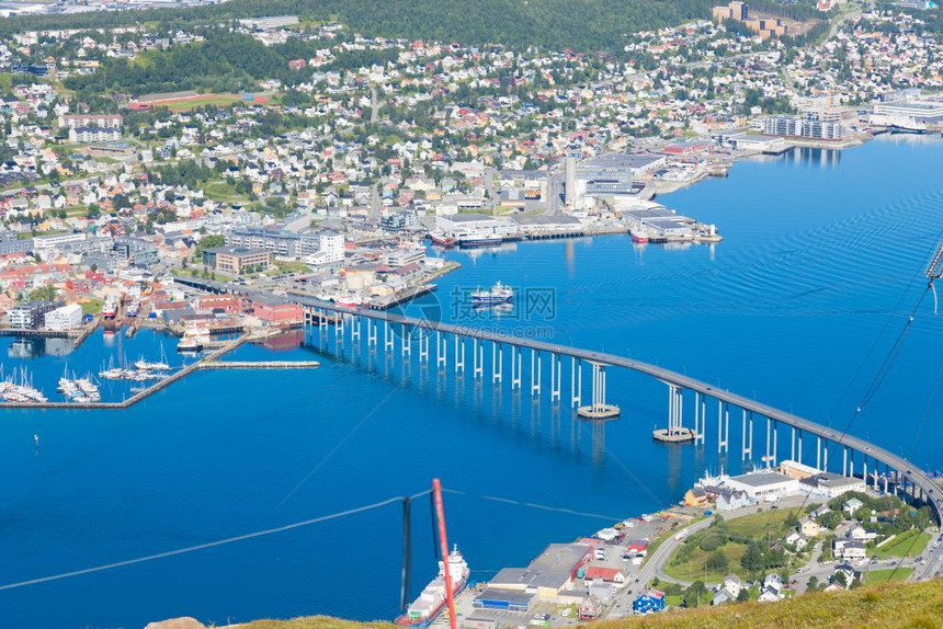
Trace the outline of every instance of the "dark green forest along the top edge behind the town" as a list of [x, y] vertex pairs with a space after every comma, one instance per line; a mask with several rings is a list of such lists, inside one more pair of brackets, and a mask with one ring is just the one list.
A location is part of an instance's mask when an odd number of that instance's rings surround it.
[[340, 21], [371, 36], [611, 50], [621, 47], [626, 33], [709, 19], [711, 4], [711, 0], [231, 0], [193, 9], [23, 16], [0, 21], [0, 33], [143, 22], [192, 26], [198, 21], [292, 14]]

